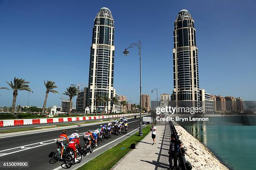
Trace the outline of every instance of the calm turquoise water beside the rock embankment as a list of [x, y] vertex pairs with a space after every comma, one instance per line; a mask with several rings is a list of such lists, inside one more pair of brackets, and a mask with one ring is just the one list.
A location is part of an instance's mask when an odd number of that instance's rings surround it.
[[209, 122], [182, 124], [231, 170], [256, 170], [256, 126], [210, 117]]

